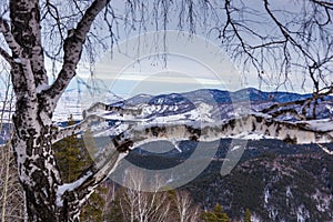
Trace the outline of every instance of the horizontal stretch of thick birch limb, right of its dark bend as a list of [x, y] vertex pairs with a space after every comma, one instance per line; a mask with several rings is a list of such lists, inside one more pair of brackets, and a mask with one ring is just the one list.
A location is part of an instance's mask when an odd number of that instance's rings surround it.
[[[134, 125], [114, 137], [112, 143], [118, 151], [127, 152], [157, 140], [214, 141], [223, 138], [246, 139], [251, 134], [296, 144], [330, 143], [333, 142], [333, 121], [285, 122], [268, 115], [250, 114], [215, 123], [184, 122]], [[112, 147], [112, 144], [110, 145]]]

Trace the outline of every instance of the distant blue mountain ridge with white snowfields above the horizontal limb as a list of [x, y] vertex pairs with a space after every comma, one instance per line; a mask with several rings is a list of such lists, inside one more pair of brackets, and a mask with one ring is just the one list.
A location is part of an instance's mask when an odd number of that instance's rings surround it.
[[[185, 93], [170, 93], [160, 95], [139, 94], [124, 101], [111, 103], [115, 107], [129, 109], [143, 109], [144, 119], [168, 117], [175, 120], [198, 120], [203, 115], [210, 117], [211, 121], [234, 118], [241, 112], [259, 112], [272, 104], [284, 103], [295, 100], [309, 99], [311, 94], [297, 94], [289, 92], [262, 92], [248, 88], [235, 92], [216, 89], [201, 89]], [[284, 109], [301, 111], [300, 105], [289, 105]], [[319, 119], [332, 117], [333, 97], [326, 97], [316, 107]], [[330, 110], [331, 109], [331, 110]], [[244, 114], [244, 113], [243, 113]], [[309, 112], [311, 114], [311, 112]], [[281, 118], [292, 120], [290, 115]]]

